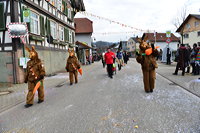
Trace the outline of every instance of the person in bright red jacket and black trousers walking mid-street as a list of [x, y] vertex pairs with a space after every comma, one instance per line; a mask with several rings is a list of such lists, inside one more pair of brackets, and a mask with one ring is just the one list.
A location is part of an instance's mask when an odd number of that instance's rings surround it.
[[110, 78], [113, 78], [113, 61], [115, 58], [115, 53], [113, 53], [110, 48], [107, 49], [107, 52], [104, 55], [105, 62], [107, 64], [107, 72]]

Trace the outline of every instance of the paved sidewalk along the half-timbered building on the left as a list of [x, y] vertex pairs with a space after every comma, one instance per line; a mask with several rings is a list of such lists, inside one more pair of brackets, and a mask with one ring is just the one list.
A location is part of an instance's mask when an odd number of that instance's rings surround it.
[[[83, 74], [84, 74], [84, 71], [87, 71], [93, 65], [95, 64], [82, 66]], [[57, 73], [55, 76], [51, 76], [51, 77], [45, 77], [44, 79], [45, 92], [48, 89], [54, 88], [63, 83], [69, 83], [69, 73], [67, 72]], [[24, 102], [25, 104], [26, 95], [28, 92], [28, 89], [27, 89], [28, 85], [24, 83], [24, 84], [13, 84], [9, 86], [10, 87], [7, 87], [7, 88], [5, 86], [0, 87], [1, 91], [11, 92], [10, 94], [0, 95], [0, 113], [22, 102]], [[35, 97], [35, 99], [36, 98], [37, 97]]]

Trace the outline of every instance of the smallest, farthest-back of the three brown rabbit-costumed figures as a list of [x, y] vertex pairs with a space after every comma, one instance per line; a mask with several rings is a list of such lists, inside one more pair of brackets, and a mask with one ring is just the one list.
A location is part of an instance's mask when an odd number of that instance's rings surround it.
[[75, 56], [74, 50], [68, 49], [68, 52], [69, 52], [69, 58], [67, 59], [67, 64], [65, 68], [67, 72], [69, 72], [70, 85], [73, 85], [74, 78], [75, 78], [75, 83], [78, 83], [78, 70], [80, 69], [80, 64]]

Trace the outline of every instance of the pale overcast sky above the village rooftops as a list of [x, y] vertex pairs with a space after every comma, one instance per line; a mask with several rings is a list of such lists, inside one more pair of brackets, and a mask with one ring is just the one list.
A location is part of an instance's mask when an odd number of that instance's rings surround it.
[[[187, 14], [200, 14], [200, 0], [83, 0], [86, 12], [109, 18], [116, 22], [143, 30], [156, 32], [176, 31], [172, 24], [173, 18], [179, 15], [186, 6]], [[93, 21], [93, 37], [96, 41], [117, 42], [127, 41], [130, 37], [141, 35], [143, 32], [122, 27], [109, 21], [80, 13], [76, 18], [87, 17]], [[134, 32], [126, 34], [125, 32]], [[110, 33], [115, 34], [100, 34]], [[121, 33], [120, 33], [121, 32]], [[117, 33], [117, 34], [116, 34]]]

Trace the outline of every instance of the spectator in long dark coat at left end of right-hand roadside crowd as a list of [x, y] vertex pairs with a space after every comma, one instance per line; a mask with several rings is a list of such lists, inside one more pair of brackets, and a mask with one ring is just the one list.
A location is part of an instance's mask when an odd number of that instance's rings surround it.
[[177, 50], [177, 65], [176, 65], [176, 69], [175, 72], [173, 73], [173, 75], [178, 75], [178, 70], [181, 69], [182, 70], [182, 76], [185, 75], [185, 63], [186, 63], [186, 53], [187, 53], [187, 49], [184, 46], [184, 44], [181, 44], [180, 48]]

